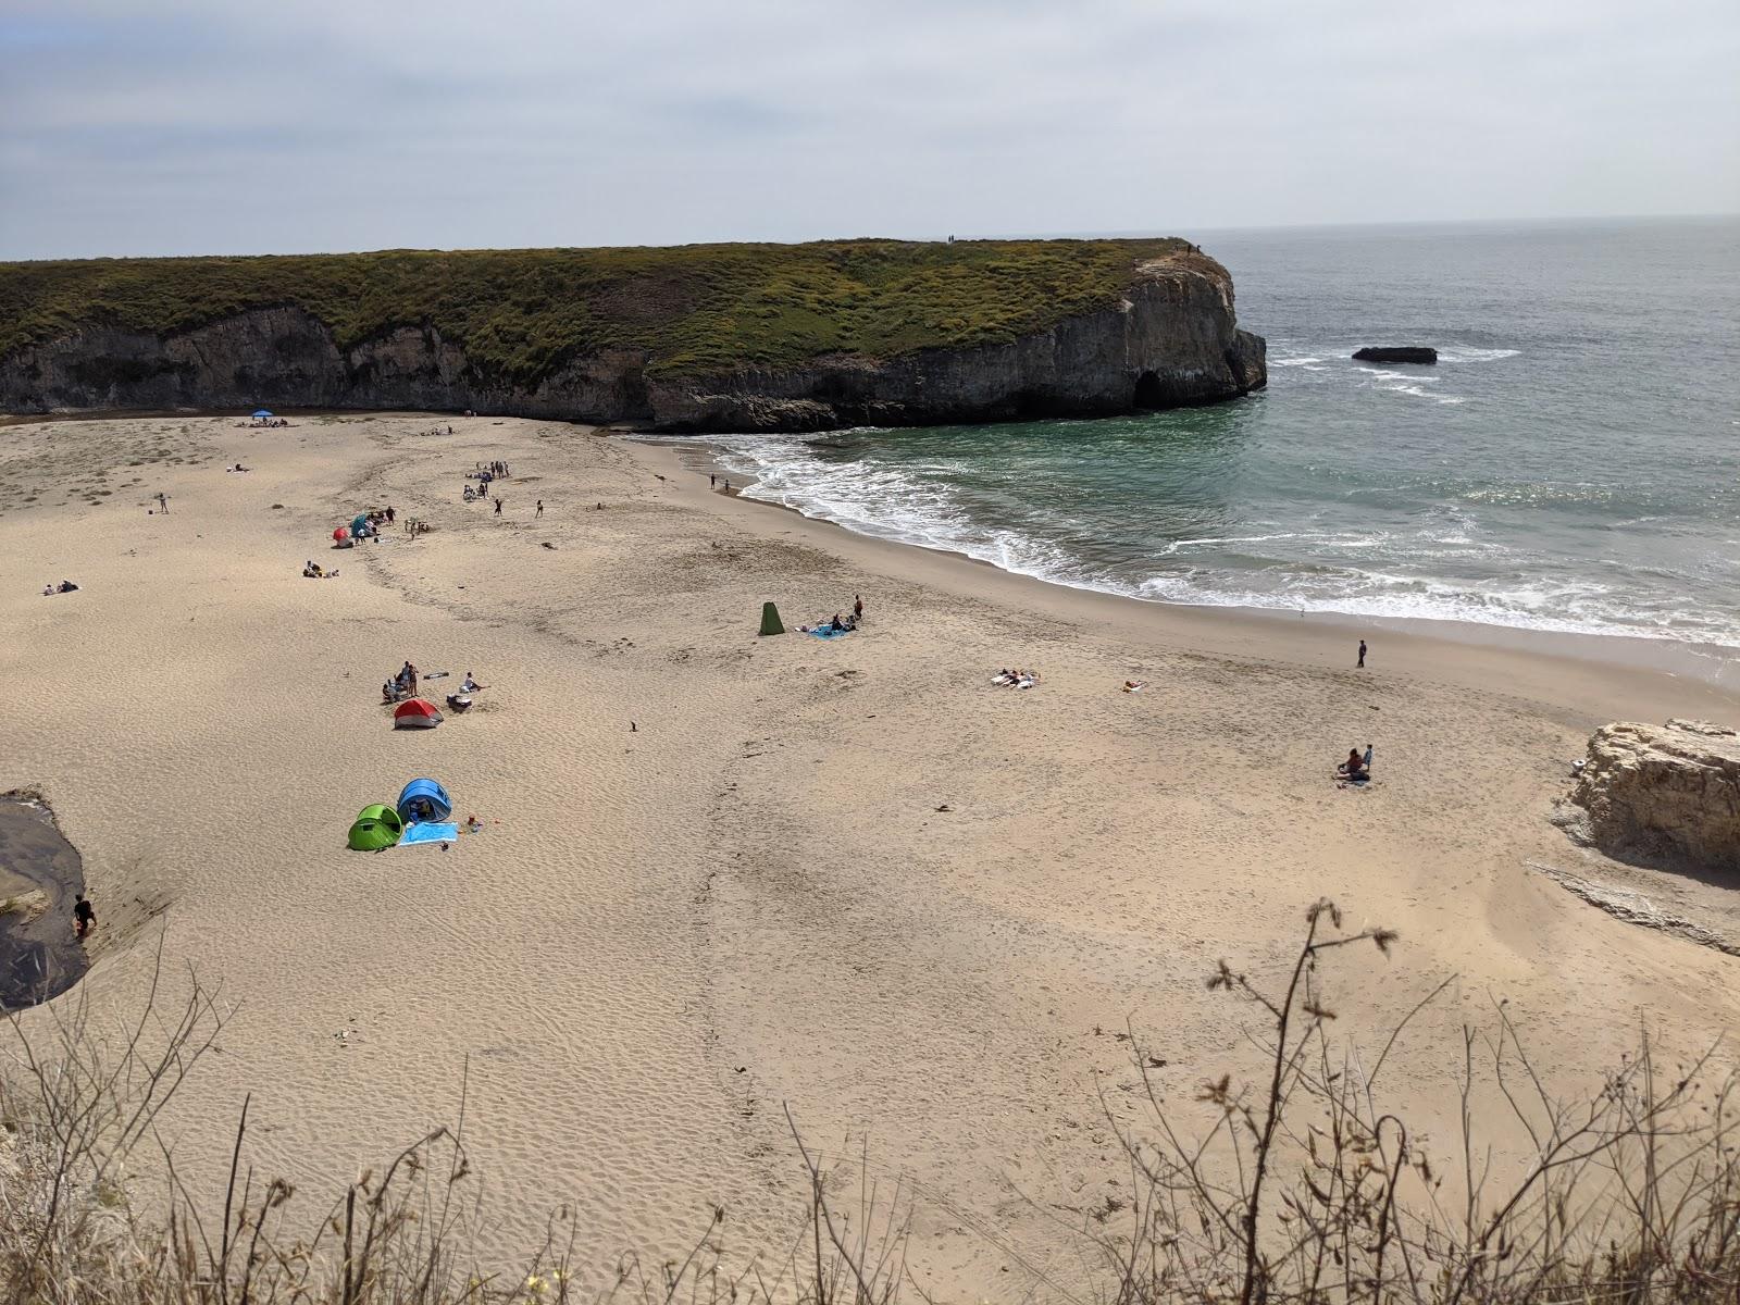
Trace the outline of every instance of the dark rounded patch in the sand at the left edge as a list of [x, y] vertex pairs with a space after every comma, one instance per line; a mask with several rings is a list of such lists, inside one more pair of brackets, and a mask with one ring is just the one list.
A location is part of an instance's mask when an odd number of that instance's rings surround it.
[[71, 924], [84, 891], [78, 849], [54, 813], [33, 793], [0, 793], [0, 900], [28, 903], [0, 915], [0, 1011], [52, 1000], [85, 976]]

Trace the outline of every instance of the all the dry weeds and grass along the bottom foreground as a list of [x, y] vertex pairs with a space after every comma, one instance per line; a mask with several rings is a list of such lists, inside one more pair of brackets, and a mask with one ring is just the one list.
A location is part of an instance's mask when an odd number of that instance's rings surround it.
[[[1382, 929], [1343, 931], [1335, 905], [1319, 901], [1277, 983], [1223, 962], [1209, 988], [1258, 1014], [1260, 1082], [1225, 1075], [1176, 1105], [1141, 1068], [1148, 1128], [1114, 1121], [1128, 1197], [1079, 1228], [1096, 1267], [1079, 1282], [1042, 1279], [1032, 1295], [1079, 1305], [1740, 1300], [1733, 1074], [1716, 1072], [1709, 1056], [1663, 1072], [1644, 1035], [1589, 1100], [1561, 1101], [1500, 1006], [1495, 1030], [1465, 1030], [1453, 1047], [1460, 1145], [1429, 1157], [1380, 1105], [1383, 1063], [1408, 1021], [1369, 1067], [1326, 1035], [1335, 1014], [1324, 962], [1394, 943]], [[228, 1183], [195, 1192], [155, 1129], [223, 1027], [212, 995], [197, 981], [190, 992], [164, 1014], [153, 981], [139, 1021], [117, 1039], [92, 1034], [77, 994], [28, 1025], [12, 1021], [16, 1058], [0, 1067], [0, 1300], [894, 1305], [903, 1291], [922, 1296], [905, 1268], [910, 1195], [861, 1185], [842, 1211], [795, 1122], [809, 1202], [783, 1260], [733, 1263], [726, 1213], [713, 1209], [684, 1260], [625, 1255], [604, 1282], [585, 1286], [574, 1265], [592, 1256], [576, 1256], [567, 1211], [552, 1216], [517, 1272], [477, 1270], [463, 1107], [454, 1129], [435, 1129], [364, 1174], [313, 1227], [291, 1220], [287, 1183], [245, 1164], [245, 1105]], [[1138, 1049], [1136, 1065], [1148, 1063]], [[1192, 1129], [1187, 1117], [1204, 1110], [1211, 1122]], [[1524, 1154], [1505, 1154], [1498, 1134], [1522, 1138]], [[157, 1168], [169, 1174], [160, 1221], [137, 1216], [124, 1195], [139, 1148], [160, 1152]], [[863, 1174], [868, 1164], [854, 1168]]]

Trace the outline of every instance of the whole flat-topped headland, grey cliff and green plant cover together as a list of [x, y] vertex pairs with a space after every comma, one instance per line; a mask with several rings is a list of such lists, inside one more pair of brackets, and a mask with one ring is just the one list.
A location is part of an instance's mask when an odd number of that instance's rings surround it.
[[0, 264], [0, 409], [473, 409], [668, 432], [1209, 404], [1267, 381], [1180, 240]]

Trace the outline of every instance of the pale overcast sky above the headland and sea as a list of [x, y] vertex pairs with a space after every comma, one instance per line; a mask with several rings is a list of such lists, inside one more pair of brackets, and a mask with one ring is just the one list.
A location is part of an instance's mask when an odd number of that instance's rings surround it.
[[1735, 211], [1737, 0], [0, 0], [0, 258]]

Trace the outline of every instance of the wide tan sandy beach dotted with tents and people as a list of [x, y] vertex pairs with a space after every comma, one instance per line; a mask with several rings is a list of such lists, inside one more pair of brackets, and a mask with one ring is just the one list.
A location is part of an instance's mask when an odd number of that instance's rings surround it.
[[[478, 459], [513, 470], [499, 517], [461, 501]], [[432, 532], [331, 548], [385, 505]], [[860, 632], [795, 632], [860, 593]], [[766, 600], [792, 633], [757, 637]], [[1049, 586], [571, 425], [0, 432], [0, 792], [42, 793], [84, 858], [99, 1018], [158, 947], [233, 1011], [164, 1117], [177, 1168], [221, 1190], [252, 1093], [256, 1169], [317, 1220], [466, 1082], [485, 1255], [562, 1202], [590, 1265], [680, 1253], [720, 1204], [729, 1253], [778, 1258], [806, 1190], [788, 1107], [905, 1185], [926, 1289], [1075, 1289], [1075, 1230], [1128, 1183], [1103, 1112], [1141, 1114], [1121, 1034], [1201, 1114], [1195, 1084], [1255, 1063], [1249, 1011], [1204, 976], [1277, 973], [1319, 896], [1401, 931], [1329, 971], [1342, 1037], [1382, 1041], [1456, 976], [1389, 1070], [1418, 1131], [1455, 1117], [1460, 1030], [1498, 1002], [1564, 1091], [1641, 1020], [1703, 1047], [1740, 1011], [1735, 959], [1529, 863], [1740, 940], [1719, 889], [1549, 823], [1596, 726], [1735, 724], [1740, 701], [1583, 652]], [[405, 659], [451, 672], [430, 693], [487, 689], [393, 731], [379, 686]], [[1002, 666], [1041, 682], [995, 687]], [[1368, 743], [1376, 783], [1338, 788]], [[484, 832], [345, 847], [423, 774]]]

